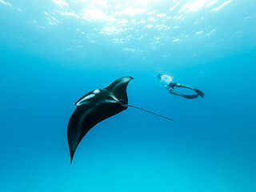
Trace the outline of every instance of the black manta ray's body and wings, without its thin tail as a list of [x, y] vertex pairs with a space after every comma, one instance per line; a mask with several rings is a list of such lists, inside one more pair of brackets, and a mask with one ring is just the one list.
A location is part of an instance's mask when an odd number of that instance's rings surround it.
[[74, 103], [77, 109], [74, 110], [67, 128], [71, 162], [79, 142], [93, 126], [127, 109], [126, 88], [132, 79], [118, 78], [110, 86], [90, 91]]

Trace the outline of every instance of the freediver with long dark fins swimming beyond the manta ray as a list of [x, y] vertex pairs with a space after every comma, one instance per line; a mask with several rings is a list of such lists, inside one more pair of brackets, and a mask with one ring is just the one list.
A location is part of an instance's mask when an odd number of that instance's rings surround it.
[[[182, 96], [183, 98], [198, 98], [198, 95], [200, 95], [202, 98], [204, 97], [204, 93], [202, 93], [201, 90], [198, 90], [198, 89], [195, 89], [195, 88], [192, 88], [190, 86], [185, 86], [185, 85], [182, 85], [182, 84], [179, 84], [177, 82], [174, 82], [173, 79], [166, 75], [166, 74], [158, 74], [158, 79], [163, 82], [165, 84], [165, 87], [167, 90], [169, 90], [169, 93], [170, 94], [175, 94], [175, 95], [178, 95], [178, 96]], [[174, 87], [177, 86], [177, 87], [183, 87], [183, 88], [186, 88], [186, 89], [190, 89], [190, 90], [194, 90], [197, 94], [178, 94], [176, 92], [174, 92]]]

